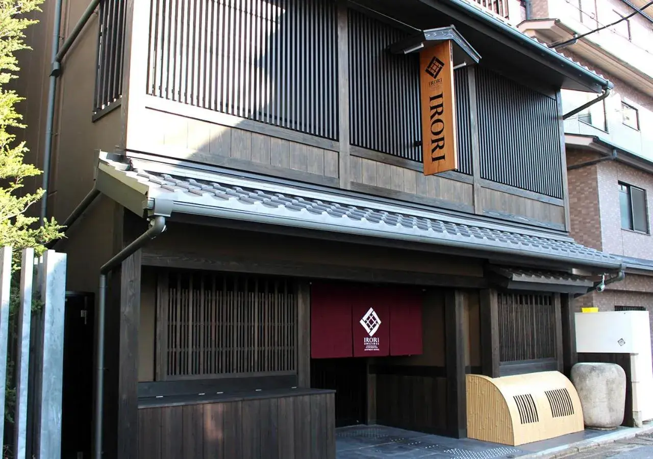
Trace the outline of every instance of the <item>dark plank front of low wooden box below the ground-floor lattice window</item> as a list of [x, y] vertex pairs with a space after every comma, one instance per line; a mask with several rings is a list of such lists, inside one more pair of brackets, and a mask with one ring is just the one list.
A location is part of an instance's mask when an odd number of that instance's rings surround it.
[[335, 459], [334, 394], [138, 410], [140, 459]]

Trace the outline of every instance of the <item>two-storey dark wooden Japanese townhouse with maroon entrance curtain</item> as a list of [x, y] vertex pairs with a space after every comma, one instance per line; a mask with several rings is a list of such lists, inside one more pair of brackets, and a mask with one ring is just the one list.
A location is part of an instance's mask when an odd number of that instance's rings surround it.
[[[41, 166], [52, 8], [20, 80]], [[481, 59], [453, 72], [458, 168], [425, 176], [419, 53], [391, 49], [450, 25]], [[105, 457], [466, 437], [466, 374], [567, 373], [574, 296], [623, 269], [569, 236], [561, 90], [611, 82], [478, 5], [105, 0], [61, 68], [47, 214], [96, 305]]]

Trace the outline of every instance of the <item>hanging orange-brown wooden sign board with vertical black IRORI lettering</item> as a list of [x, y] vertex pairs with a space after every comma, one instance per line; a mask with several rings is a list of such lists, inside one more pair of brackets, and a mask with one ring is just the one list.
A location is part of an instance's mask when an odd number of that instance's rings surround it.
[[458, 168], [451, 40], [419, 54], [424, 175]]

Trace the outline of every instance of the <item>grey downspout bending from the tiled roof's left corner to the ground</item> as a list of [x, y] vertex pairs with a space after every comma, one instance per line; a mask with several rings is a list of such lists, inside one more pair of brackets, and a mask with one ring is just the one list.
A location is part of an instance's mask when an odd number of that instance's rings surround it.
[[104, 313], [106, 311], [106, 276], [121, 264], [127, 257], [143, 247], [147, 242], [159, 236], [166, 229], [165, 217], [157, 215], [150, 220], [150, 228], [138, 236], [135, 241], [119, 251], [112, 259], [104, 263], [100, 268], [100, 289], [97, 308], [98, 326], [97, 326], [97, 362], [95, 378], [95, 426], [93, 431], [93, 441], [95, 459], [102, 459], [102, 421], [103, 421], [103, 398], [104, 398]]

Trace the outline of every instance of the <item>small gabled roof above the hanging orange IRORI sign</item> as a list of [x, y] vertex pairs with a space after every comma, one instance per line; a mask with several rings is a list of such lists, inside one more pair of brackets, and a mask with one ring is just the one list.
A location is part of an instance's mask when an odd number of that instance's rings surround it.
[[422, 30], [406, 39], [391, 44], [390, 52], [394, 54], [419, 52], [445, 40], [453, 42], [453, 65], [474, 65], [481, 60], [481, 55], [458, 33], [453, 25]]

